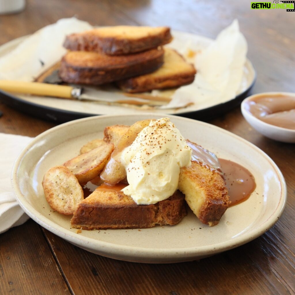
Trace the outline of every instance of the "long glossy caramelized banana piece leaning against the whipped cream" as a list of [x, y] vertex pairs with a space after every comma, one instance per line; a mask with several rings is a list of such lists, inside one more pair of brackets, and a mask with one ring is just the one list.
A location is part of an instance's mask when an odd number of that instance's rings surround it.
[[100, 174], [100, 178], [110, 185], [115, 185], [126, 178], [126, 171], [121, 164], [120, 156], [122, 150], [132, 144], [137, 137], [137, 134], [148, 124], [151, 119], [137, 121], [125, 132], [119, 139], [116, 148], [114, 149], [111, 158], [104, 167], [104, 170]]

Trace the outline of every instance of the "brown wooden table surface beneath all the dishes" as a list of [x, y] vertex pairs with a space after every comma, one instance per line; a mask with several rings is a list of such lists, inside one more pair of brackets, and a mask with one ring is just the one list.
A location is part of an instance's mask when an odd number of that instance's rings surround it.
[[[212, 38], [237, 18], [258, 74], [252, 93], [294, 91], [295, 12], [250, 9], [250, 0], [28, 0], [23, 12], [0, 15], [0, 45], [73, 15], [93, 25], [166, 25]], [[57, 125], [3, 103], [0, 111], [4, 133], [36, 136]], [[295, 294], [294, 144], [260, 135], [239, 107], [209, 123], [252, 142], [281, 169], [288, 200], [270, 230], [209, 258], [142, 264], [89, 253], [30, 219], [0, 235], [0, 294]]]

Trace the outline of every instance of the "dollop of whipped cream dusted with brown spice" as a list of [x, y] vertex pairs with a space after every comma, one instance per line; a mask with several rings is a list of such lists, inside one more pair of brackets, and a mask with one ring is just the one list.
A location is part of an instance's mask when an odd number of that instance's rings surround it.
[[129, 183], [122, 191], [137, 204], [168, 199], [178, 187], [181, 167], [191, 165], [191, 148], [169, 118], [151, 120], [122, 151]]

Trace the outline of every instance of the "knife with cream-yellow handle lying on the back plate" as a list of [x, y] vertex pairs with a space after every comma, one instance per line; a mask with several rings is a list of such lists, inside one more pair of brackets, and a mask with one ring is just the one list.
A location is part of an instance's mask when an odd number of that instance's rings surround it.
[[[31, 94], [38, 96], [50, 96], [62, 99], [91, 100], [104, 103], [119, 103], [132, 105], [163, 105], [169, 100], [165, 97], [134, 97], [124, 99], [123, 93], [111, 92], [111, 97], [106, 96], [106, 91], [91, 87], [73, 87], [67, 85], [56, 85], [39, 82], [24, 82], [0, 80], [0, 90], [12, 93]], [[140, 96], [140, 94], [139, 94]]]

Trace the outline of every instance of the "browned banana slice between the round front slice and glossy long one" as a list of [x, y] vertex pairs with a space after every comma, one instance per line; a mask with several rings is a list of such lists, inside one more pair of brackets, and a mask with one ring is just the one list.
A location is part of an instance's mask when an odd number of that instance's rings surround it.
[[107, 143], [78, 155], [63, 165], [75, 174], [81, 185], [85, 185], [88, 181], [99, 176], [113, 150], [114, 145]]

